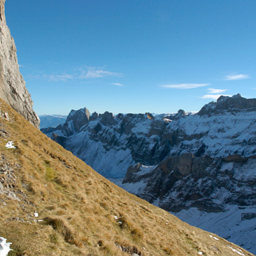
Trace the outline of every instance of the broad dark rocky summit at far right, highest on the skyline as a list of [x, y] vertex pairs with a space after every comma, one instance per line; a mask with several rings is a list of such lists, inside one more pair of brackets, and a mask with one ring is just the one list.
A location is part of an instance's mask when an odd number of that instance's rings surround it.
[[242, 112], [242, 111], [255, 111], [256, 110], [256, 99], [246, 99], [239, 93], [229, 96], [220, 96], [217, 102], [210, 102], [204, 105], [198, 112], [199, 115], [213, 115], [220, 114], [222, 112]]

